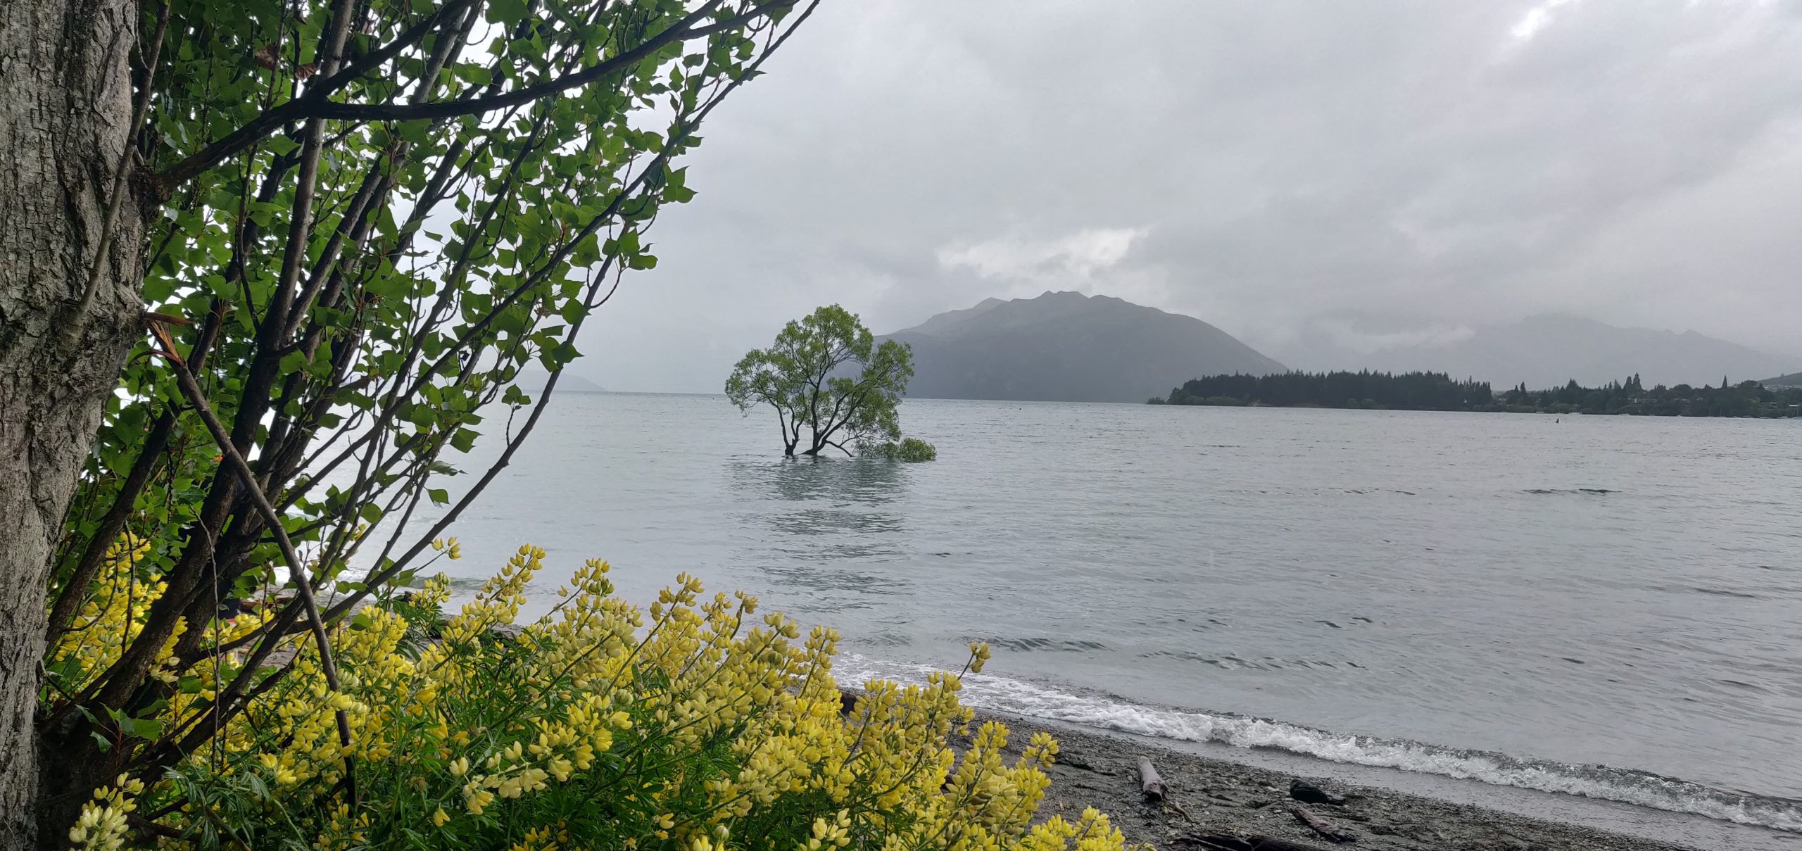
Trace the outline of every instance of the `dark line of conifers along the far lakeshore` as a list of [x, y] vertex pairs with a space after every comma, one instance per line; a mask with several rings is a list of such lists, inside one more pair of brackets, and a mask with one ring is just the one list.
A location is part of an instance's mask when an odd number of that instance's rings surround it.
[[1802, 416], [1802, 388], [1768, 389], [1755, 380], [1719, 388], [1663, 384], [1645, 389], [1640, 377], [1584, 388], [1571, 380], [1553, 389], [1503, 393], [1483, 380], [1454, 380], [1445, 373], [1288, 371], [1274, 375], [1209, 375], [1184, 382], [1173, 406], [1373, 407], [1386, 411], [1510, 411], [1510, 413], [1624, 413], [1645, 416]]

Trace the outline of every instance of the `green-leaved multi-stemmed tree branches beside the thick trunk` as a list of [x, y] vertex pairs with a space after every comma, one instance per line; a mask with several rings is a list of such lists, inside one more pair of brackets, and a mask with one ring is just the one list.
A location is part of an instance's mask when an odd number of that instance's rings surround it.
[[[207, 624], [234, 599], [276, 599], [287, 561], [337, 595], [326, 622], [413, 582], [532, 431], [591, 312], [623, 272], [656, 265], [647, 233], [665, 204], [694, 198], [676, 160], [701, 142], [701, 121], [813, 4], [142, 9], [144, 40], [121, 50], [139, 63], [146, 114], [132, 155], [153, 334], [108, 398], [67, 517], [50, 645], [115, 593], [117, 541], [133, 554], [132, 588], [159, 593], [108, 638], [119, 647], [103, 669], [79, 653], [47, 660], [40, 750], [72, 766], [49, 801], [155, 777], [285, 676], [276, 651], [308, 629], [297, 600], [241, 635]], [[532, 362], [551, 373], [535, 397], [515, 386]], [[222, 462], [196, 395], [254, 487]], [[497, 460], [445, 483], [478, 440], [501, 444]], [[420, 516], [429, 528], [414, 528]], [[214, 698], [177, 700], [178, 683], [240, 651]]]

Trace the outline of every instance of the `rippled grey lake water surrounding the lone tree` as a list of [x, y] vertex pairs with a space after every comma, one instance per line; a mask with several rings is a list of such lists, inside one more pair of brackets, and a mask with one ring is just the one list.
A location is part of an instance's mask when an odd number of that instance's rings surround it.
[[688, 570], [842, 682], [986, 640], [991, 709], [1802, 831], [1802, 422], [908, 400], [901, 465], [773, 418], [559, 397], [454, 570]]

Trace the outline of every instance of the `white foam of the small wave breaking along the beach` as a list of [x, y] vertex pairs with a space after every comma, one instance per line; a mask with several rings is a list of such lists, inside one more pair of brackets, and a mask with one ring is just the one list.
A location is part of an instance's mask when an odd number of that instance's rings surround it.
[[[930, 667], [840, 656], [834, 674], [843, 683], [870, 678], [915, 682]], [[1240, 748], [1278, 748], [1332, 763], [1398, 768], [1470, 779], [1496, 786], [1618, 801], [1726, 822], [1802, 833], [1802, 802], [1716, 790], [1697, 782], [1600, 764], [1566, 764], [1483, 750], [1458, 750], [1407, 739], [1344, 736], [1263, 718], [1204, 710], [1159, 709], [1112, 698], [1070, 694], [993, 674], [964, 676], [968, 705], [1029, 718], [1069, 721], [1103, 730], [1179, 741], [1222, 743]]]

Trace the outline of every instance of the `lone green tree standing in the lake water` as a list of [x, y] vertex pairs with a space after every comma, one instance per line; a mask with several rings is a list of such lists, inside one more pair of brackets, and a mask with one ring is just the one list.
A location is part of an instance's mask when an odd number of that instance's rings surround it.
[[[876, 344], [858, 316], [827, 305], [777, 334], [777, 343], [744, 355], [726, 379], [726, 398], [750, 411], [768, 404], [782, 426], [782, 454], [820, 454], [845, 444], [897, 440], [896, 407], [914, 377], [906, 343]], [[802, 429], [807, 431], [805, 444]]]

